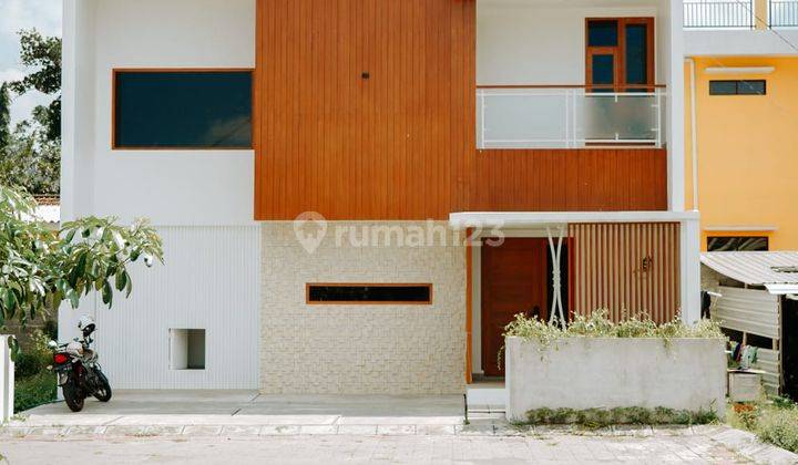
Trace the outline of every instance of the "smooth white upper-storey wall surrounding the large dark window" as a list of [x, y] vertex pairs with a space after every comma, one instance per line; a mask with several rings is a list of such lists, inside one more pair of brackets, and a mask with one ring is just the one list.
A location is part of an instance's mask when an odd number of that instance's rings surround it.
[[64, 217], [253, 218], [253, 151], [112, 151], [114, 68], [254, 68], [255, 0], [65, 0]]

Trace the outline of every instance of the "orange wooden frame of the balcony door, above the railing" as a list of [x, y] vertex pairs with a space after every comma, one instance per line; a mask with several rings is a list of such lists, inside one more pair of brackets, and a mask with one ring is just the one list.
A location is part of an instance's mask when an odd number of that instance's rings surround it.
[[[590, 45], [590, 23], [591, 21], [617, 21], [618, 41], [616, 46], [591, 46]], [[651, 17], [632, 17], [632, 18], [585, 18], [584, 30], [584, 48], [585, 48], [585, 85], [590, 90], [593, 73], [591, 61], [594, 54], [613, 53], [615, 55], [615, 92], [623, 92], [626, 89], [646, 89], [653, 91], [656, 85], [656, 46], [655, 46], [655, 19]], [[626, 24], [645, 24], [646, 29], [646, 83], [645, 84], [627, 84], [626, 83]]]

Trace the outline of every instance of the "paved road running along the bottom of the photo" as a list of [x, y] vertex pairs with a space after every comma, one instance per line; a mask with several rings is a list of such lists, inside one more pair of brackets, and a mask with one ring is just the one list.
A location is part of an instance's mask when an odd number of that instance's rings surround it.
[[268, 436], [0, 440], [6, 463], [522, 464], [747, 463], [702, 435], [596, 437]]

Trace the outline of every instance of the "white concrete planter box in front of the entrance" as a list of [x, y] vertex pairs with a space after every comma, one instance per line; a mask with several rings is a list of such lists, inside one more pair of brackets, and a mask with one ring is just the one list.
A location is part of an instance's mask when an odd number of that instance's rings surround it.
[[525, 421], [534, 409], [726, 405], [722, 339], [564, 338], [543, 348], [507, 338], [507, 417]]

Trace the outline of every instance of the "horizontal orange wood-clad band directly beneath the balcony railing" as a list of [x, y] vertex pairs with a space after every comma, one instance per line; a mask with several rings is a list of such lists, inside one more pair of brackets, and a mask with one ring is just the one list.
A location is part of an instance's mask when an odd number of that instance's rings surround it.
[[473, 211], [667, 209], [667, 153], [656, 148], [477, 153]]

